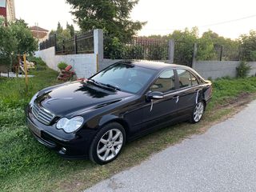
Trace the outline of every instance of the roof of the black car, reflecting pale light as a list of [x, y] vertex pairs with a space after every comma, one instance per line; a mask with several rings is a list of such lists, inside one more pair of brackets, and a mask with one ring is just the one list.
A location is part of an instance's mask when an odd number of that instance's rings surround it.
[[153, 62], [153, 61], [122, 61], [125, 64], [131, 64], [131, 65], [135, 65], [135, 66], [142, 66], [145, 68], [149, 68], [152, 70], [163, 70], [166, 68], [182, 68], [182, 69], [191, 69], [188, 66], [181, 66], [181, 65], [177, 65], [177, 64], [169, 64], [169, 63], [165, 63], [165, 62]]

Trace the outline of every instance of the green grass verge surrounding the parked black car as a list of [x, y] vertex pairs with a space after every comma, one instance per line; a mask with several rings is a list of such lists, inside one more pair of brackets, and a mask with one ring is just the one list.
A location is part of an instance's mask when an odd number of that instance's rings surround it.
[[[184, 122], [170, 126], [128, 143], [117, 160], [98, 166], [88, 160], [69, 161], [39, 144], [26, 127], [24, 107], [43, 87], [54, 85], [57, 73], [53, 70], [32, 72], [29, 92], [24, 79], [0, 78], [0, 186], [1, 191], [79, 191], [92, 186], [158, 152], [179, 142], [190, 134], [226, 114], [232, 108], [219, 106], [256, 93], [256, 78], [221, 79], [214, 82], [212, 102], [202, 122], [191, 125]], [[207, 120], [207, 121], [206, 121]]]

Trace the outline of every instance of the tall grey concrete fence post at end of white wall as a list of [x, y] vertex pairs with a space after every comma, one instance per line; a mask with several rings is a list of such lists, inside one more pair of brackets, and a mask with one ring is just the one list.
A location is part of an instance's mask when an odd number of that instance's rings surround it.
[[94, 30], [94, 54], [98, 54], [98, 62], [103, 61], [103, 30]]

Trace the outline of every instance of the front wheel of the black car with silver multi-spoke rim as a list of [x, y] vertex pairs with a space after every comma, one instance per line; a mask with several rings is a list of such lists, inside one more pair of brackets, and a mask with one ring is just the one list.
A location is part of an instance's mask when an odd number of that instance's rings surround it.
[[89, 157], [92, 162], [104, 165], [114, 161], [126, 143], [126, 131], [118, 122], [103, 126], [90, 145]]

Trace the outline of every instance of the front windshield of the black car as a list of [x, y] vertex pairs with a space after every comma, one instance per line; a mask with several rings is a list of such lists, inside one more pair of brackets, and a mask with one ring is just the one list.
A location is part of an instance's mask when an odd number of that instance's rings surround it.
[[154, 76], [155, 70], [133, 64], [117, 63], [90, 78], [95, 83], [133, 94], [138, 93]]

